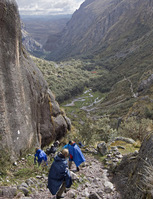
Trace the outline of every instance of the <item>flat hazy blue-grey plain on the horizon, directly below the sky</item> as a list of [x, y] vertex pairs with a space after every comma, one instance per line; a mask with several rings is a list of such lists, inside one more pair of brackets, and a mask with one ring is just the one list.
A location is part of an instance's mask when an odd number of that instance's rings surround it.
[[21, 15], [25, 30], [38, 43], [46, 43], [49, 35], [63, 30], [71, 15]]

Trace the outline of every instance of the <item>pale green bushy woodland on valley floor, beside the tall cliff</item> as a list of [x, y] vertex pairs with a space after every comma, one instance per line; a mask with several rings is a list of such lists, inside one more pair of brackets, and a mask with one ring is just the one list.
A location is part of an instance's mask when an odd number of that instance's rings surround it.
[[42, 71], [58, 102], [63, 102], [83, 92], [84, 88], [89, 86], [90, 80], [98, 76], [91, 71], [84, 70], [84, 66], [89, 63], [80, 60], [61, 63], [34, 57], [33, 60]]

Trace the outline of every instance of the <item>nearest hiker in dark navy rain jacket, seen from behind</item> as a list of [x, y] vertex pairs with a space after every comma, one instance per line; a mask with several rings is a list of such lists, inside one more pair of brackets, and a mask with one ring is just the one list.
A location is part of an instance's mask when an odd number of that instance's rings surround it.
[[54, 158], [48, 175], [48, 189], [52, 195], [56, 194], [56, 198], [62, 198], [62, 193], [66, 188], [72, 185], [72, 178], [68, 169], [66, 157], [69, 152], [63, 149]]

